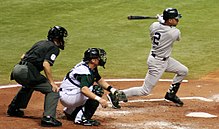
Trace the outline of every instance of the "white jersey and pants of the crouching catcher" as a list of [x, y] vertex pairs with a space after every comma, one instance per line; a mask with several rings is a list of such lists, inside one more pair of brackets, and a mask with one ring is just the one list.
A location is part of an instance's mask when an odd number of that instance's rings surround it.
[[[97, 69], [95, 73], [98, 73]], [[88, 97], [81, 92], [81, 82], [78, 78], [81, 76], [90, 76], [90, 78], [87, 78], [88, 84], [86, 86], [89, 86], [89, 89], [92, 91], [93, 83], [95, 81], [93, 74], [94, 73], [91, 72], [88, 65], [82, 61], [66, 75], [60, 85], [61, 90], [59, 92], [60, 102], [65, 107], [64, 111], [66, 113], [71, 114], [77, 107], [85, 104]], [[99, 74], [98, 77], [100, 78]], [[79, 112], [77, 117], [81, 118], [82, 115], [83, 113]]]

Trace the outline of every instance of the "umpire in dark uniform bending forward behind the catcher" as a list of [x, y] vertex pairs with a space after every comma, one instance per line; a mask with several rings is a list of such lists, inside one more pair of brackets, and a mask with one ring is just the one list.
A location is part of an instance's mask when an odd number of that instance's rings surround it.
[[[60, 50], [64, 50], [67, 30], [61, 26], [54, 26], [48, 32], [48, 40], [42, 40], [32, 46], [15, 65], [11, 73], [11, 80], [15, 80], [22, 87], [8, 106], [7, 115], [23, 117], [24, 111], [34, 90], [45, 94], [44, 113], [41, 126], [62, 126], [56, 120], [59, 87], [54, 83], [51, 66], [53, 66]], [[40, 72], [44, 71], [45, 76]]]

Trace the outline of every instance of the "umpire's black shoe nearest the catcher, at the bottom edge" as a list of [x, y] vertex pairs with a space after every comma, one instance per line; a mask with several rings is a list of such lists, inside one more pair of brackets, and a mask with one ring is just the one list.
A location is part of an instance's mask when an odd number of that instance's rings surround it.
[[41, 120], [41, 126], [58, 127], [58, 126], [62, 126], [62, 123], [51, 116], [43, 116]]

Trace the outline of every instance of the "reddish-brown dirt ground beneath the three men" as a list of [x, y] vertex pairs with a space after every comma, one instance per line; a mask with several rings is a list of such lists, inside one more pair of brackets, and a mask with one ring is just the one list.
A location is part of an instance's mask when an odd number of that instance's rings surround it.
[[[75, 125], [66, 120], [62, 105], [57, 108], [58, 119], [65, 129], [218, 129], [219, 128], [219, 71], [199, 80], [182, 83], [178, 96], [183, 107], [163, 99], [170, 82], [158, 82], [151, 95], [130, 97], [121, 103], [121, 109], [98, 108], [93, 116], [101, 122], [98, 127]], [[142, 82], [109, 82], [118, 89], [140, 86]], [[41, 129], [44, 95], [34, 92], [25, 110], [24, 118], [7, 117], [7, 106], [18, 91], [17, 88], [0, 89], [0, 129]], [[104, 96], [106, 98], [106, 96]], [[188, 113], [202, 112], [218, 117], [188, 117]], [[45, 127], [44, 127], [45, 128]]]

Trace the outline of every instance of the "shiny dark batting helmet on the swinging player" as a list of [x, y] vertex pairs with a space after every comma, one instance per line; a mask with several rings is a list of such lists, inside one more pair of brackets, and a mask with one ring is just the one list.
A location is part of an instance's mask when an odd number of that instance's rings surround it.
[[163, 11], [164, 20], [173, 19], [173, 18], [179, 19], [181, 17], [182, 15], [175, 8], [167, 8]]

